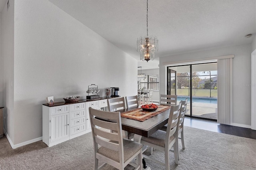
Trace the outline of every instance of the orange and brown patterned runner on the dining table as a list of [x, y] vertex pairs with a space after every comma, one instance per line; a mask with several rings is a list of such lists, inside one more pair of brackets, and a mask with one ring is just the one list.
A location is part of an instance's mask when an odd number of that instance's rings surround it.
[[133, 119], [136, 121], [146, 121], [147, 119], [158, 115], [159, 113], [162, 113], [168, 109], [170, 109], [171, 106], [164, 106], [164, 105], [158, 105], [158, 109], [156, 111], [143, 111], [141, 108], [134, 109], [132, 111], [127, 111], [124, 113], [121, 113], [121, 117]]

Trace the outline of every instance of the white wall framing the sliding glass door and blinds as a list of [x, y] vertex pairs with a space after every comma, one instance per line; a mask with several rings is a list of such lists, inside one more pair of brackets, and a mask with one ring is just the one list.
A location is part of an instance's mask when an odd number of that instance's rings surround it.
[[183, 63], [191, 59], [207, 60], [208, 57], [232, 55], [233, 59], [233, 123], [240, 126], [251, 125], [251, 89], [244, 86], [251, 82], [251, 44], [225, 47], [169, 57], [160, 57], [160, 93], [166, 91], [166, 62]]

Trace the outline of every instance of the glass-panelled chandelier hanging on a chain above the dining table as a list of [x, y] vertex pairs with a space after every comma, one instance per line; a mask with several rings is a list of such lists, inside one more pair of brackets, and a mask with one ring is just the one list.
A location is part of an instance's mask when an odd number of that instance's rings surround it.
[[147, 0], [147, 36], [137, 40], [137, 51], [140, 52], [140, 60], [149, 61], [155, 59], [155, 51], [158, 51], [158, 39], [148, 36], [148, 0]]

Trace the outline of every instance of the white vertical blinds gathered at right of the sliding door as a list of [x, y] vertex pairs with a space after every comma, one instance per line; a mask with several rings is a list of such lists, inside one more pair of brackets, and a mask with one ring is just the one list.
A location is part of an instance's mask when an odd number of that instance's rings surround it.
[[218, 59], [218, 113], [217, 122], [232, 123], [232, 59]]

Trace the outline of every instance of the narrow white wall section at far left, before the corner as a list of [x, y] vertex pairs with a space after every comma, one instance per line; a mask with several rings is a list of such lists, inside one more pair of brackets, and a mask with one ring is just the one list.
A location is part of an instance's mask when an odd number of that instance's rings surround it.
[[8, 138], [14, 140], [14, 0], [9, 0], [10, 7], [7, 10], [7, 1], [1, 12], [1, 58], [3, 70], [1, 75], [4, 84], [4, 116], [6, 116], [6, 131]]

